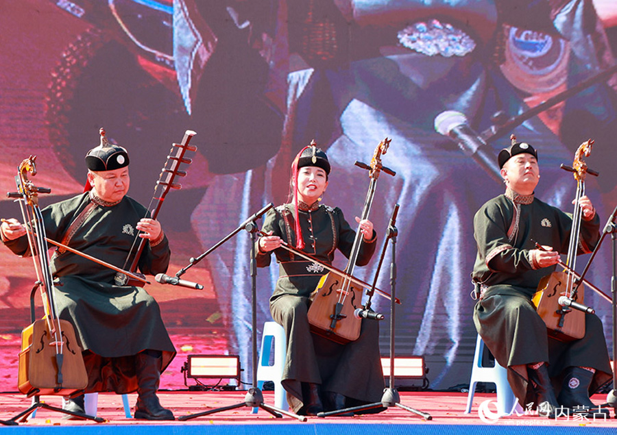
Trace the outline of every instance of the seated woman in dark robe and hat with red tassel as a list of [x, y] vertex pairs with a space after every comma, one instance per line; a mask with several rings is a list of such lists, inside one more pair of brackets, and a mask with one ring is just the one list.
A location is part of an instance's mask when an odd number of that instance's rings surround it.
[[[346, 345], [312, 334], [309, 296], [327, 271], [280, 248], [285, 241], [324, 264], [332, 263], [337, 248], [350, 255], [354, 230], [339, 208], [319, 204], [329, 173], [324, 151], [315, 145], [302, 149], [291, 167], [289, 201], [269, 210], [263, 225], [269, 235], [257, 241], [257, 265], [268, 266], [272, 251], [279, 263], [270, 312], [287, 334], [282, 385], [291, 409], [306, 415], [380, 401], [384, 388], [378, 323], [363, 319], [360, 337]], [[369, 220], [356, 222], [363, 235], [356, 264], [364, 265], [375, 251], [376, 233]]]

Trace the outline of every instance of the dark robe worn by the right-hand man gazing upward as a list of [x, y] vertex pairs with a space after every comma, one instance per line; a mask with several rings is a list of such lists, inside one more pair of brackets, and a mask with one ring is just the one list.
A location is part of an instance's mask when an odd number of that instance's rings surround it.
[[[535, 249], [533, 240], [567, 253], [571, 227], [570, 215], [510, 189], [487, 201], [474, 216], [478, 255], [472, 278], [482, 287], [474, 323], [497, 362], [509, 368], [509, 384], [522, 404], [535, 401], [527, 364], [548, 362], [557, 394], [568, 366], [596, 369], [590, 393], [612, 379], [598, 316], [586, 314], [585, 336], [566, 343], [547, 336], [546, 324], [531, 302], [540, 279], [555, 270], [537, 269], [529, 253]], [[582, 221], [579, 253], [590, 252], [598, 243], [599, 227], [597, 215]]]

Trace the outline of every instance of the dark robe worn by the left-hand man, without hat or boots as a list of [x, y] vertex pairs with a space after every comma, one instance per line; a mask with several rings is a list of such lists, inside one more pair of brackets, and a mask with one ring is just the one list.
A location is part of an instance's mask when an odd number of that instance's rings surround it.
[[[84, 193], [41, 210], [47, 238], [61, 242], [90, 202], [90, 195]], [[112, 206], [99, 203], [71, 229], [68, 246], [126, 270], [132, 261], [127, 262], [127, 256], [137, 234], [135, 225], [143, 217], [149, 217], [149, 212], [130, 197]], [[29, 254], [25, 236], [5, 245], [16, 254]], [[165, 273], [170, 257], [166, 237], [154, 247], [146, 242], [138, 269], [146, 275]], [[134, 392], [134, 356], [145, 349], [160, 351], [161, 371], [167, 368], [176, 349], [158, 303], [144, 288], [118, 286], [115, 271], [69, 251], [56, 249], [50, 267], [58, 316], [73, 323], [84, 351], [86, 393]]]

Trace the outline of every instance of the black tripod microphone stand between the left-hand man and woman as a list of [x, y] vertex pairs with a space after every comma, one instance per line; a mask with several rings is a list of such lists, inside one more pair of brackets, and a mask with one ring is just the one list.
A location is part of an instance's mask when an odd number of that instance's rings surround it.
[[197, 264], [197, 262], [201, 261], [204, 257], [206, 257], [208, 253], [217, 249], [217, 247], [221, 246], [227, 240], [232, 238], [232, 236], [239, 233], [242, 229], [245, 229], [247, 232], [250, 233], [250, 236], [251, 236], [251, 252], [250, 252], [251, 272], [250, 273], [251, 273], [251, 296], [252, 296], [252, 307], [251, 307], [252, 308], [252, 319], [251, 319], [252, 333], [251, 335], [252, 335], [252, 351], [253, 351], [252, 387], [249, 388], [249, 390], [247, 391], [243, 402], [235, 403], [234, 405], [230, 405], [230, 406], [223, 406], [222, 408], [216, 408], [213, 410], [198, 412], [197, 414], [182, 415], [178, 417], [178, 420], [180, 421], [195, 419], [196, 417], [202, 417], [204, 415], [215, 414], [216, 412], [234, 410], [236, 408], [242, 408], [242, 407], [261, 408], [265, 410], [266, 412], [269, 412], [270, 414], [272, 414], [274, 417], [278, 419], [282, 418], [282, 414], [285, 414], [287, 415], [287, 417], [293, 417], [300, 421], [306, 421], [306, 417], [304, 416], [294, 414], [293, 412], [281, 410], [279, 408], [276, 408], [274, 406], [271, 406], [265, 403], [263, 401], [263, 393], [261, 392], [261, 389], [259, 389], [257, 386], [257, 264], [256, 264], [256, 259], [255, 259], [256, 258], [255, 242], [257, 239], [257, 225], [255, 224], [255, 221], [261, 218], [261, 216], [265, 212], [267, 212], [267, 210], [271, 209], [272, 207], [274, 207], [274, 205], [272, 203], [269, 203], [267, 206], [265, 206], [263, 209], [259, 210], [256, 214], [254, 214], [249, 219], [244, 221], [239, 227], [237, 227], [237, 229], [234, 229], [233, 232], [228, 234], [228, 236], [223, 238], [214, 247], [208, 249], [208, 251], [203, 253], [197, 259], [191, 258], [191, 264], [189, 264], [189, 266], [186, 266], [184, 269], [176, 273], [176, 276], [182, 275], [182, 273], [186, 272], [186, 269], [189, 269], [194, 264]]

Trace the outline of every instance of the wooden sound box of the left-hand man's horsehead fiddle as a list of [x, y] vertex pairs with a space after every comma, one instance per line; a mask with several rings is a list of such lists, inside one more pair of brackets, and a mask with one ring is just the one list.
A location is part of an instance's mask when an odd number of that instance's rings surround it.
[[53, 344], [46, 320], [37, 320], [21, 333], [19, 352], [19, 391], [28, 397], [33, 395], [69, 396], [88, 386], [88, 373], [82, 349], [77, 345], [73, 325], [65, 320], [56, 320], [62, 328], [62, 384], [58, 383], [56, 345]]

